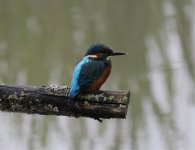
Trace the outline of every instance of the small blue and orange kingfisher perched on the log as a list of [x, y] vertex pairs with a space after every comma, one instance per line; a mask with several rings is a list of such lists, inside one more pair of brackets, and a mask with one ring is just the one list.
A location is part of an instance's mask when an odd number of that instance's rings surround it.
[[124, 52], [114, 52], [102, 43], [89, 46], [85, 56], [76, 64], [68, 96], [96, 93], [111, 73], [111, 56], [126, 55]]

